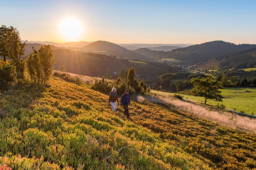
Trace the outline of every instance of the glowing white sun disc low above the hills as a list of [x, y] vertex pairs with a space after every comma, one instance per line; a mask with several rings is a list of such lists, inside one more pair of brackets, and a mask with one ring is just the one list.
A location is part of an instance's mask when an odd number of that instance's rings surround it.
[[78, 41], [83, 33], [81, 22], [72, 17], [63, 19], [59, 29], [62, 39], [65, 41]]

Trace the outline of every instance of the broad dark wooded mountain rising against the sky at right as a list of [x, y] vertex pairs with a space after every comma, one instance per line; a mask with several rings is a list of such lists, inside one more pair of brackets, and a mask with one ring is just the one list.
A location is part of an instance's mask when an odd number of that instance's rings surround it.
[[213, 57], [221, 54], [251, 48], [256, 45], [241, 44], [235, 45], [224, 41], [211, 41], [199, 45], [189, 46], [182, 49], [174, 49], [166, 58], [175, 58], [176, 60], [186, 61], [188, 65], [200, 62], [207, 62]]

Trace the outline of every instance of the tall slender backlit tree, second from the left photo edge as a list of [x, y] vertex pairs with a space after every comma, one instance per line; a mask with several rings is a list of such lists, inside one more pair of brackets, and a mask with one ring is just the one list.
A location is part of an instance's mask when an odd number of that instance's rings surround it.
[[16, 68], [17, 78], [24, 77], [25, 62], [22, 60], [22, 55], [25, 55], [27, 40], [22, 43], [19, 36], [19, 31], [16, 28], [10, 27], [5, 40], [5, 48], [8, 51], [11, 63]]

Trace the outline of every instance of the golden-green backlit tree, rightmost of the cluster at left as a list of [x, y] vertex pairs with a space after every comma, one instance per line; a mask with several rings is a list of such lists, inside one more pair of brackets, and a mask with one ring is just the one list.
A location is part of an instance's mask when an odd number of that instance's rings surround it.
[[41, 46], [38, 50], [38, 54], [40, 57], [40, 63], [42, 64], [44, 75], [43, 85], [45, 85], [46, 82], [49, 80], [50, 76], [52, 75], [56, 60], [54, 58], [53, 50], [50, 45]]

